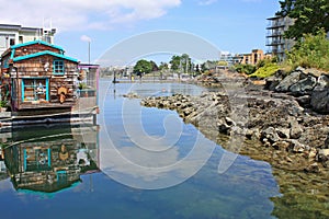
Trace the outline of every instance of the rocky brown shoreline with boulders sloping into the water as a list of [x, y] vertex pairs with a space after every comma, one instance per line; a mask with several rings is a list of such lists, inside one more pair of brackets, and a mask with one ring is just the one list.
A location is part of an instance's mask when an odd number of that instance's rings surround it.
[[[232, 152], [282, 170], [328, 173], [328, 73], [298, 68], [290, 76], [277, 72], [264, 87], [225, 73], [198, 82], [216, 89], [200, 96], [151, 96], [141, 105], [177, 111]], [[238, 146], [227, 143], [237, 138], [243, 139]]]

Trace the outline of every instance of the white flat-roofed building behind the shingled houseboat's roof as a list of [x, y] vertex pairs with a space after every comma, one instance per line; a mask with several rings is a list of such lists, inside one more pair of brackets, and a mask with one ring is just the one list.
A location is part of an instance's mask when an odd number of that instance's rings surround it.
[[10, 46], [41, 39], [54, 44], [56, 28], [23, 27], [21, 25], [0, 24], [0, 55]]

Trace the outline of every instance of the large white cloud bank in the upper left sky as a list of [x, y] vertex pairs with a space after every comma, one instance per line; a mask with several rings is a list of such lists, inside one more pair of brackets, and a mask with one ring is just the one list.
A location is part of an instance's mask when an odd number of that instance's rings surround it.
[[53, 26], [61, 31], [104, 30], [157, 19], [180, 4], [181, 0], [0, 0], [0, 21], [41, 26], [44, 19], [52, 19]]

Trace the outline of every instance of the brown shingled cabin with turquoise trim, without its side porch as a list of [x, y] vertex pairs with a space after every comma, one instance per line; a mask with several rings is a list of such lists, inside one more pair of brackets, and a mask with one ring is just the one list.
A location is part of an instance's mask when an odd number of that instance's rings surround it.
[[78, 60], [43, 41], [11, 46], [1, 56], [2, 100], [12, 111], [71, 107]]

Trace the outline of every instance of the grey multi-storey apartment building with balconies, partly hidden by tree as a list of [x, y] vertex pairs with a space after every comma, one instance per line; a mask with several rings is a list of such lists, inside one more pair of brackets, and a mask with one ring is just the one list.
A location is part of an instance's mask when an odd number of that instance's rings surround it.
[[269, 18], [269, 25], [266, 27], [266, 46], [268, 53], [276, 56], [279, 61], [285, 59], [285, 51], [294, 46], [293, 39], [284, 38], [284, 32], [294, 24], [294, 20], [285, 16]]

